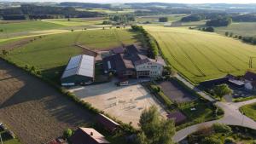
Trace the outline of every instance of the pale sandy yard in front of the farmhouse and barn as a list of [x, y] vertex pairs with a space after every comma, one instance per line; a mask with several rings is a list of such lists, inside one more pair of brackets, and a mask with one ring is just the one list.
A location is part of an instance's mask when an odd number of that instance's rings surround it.
[[166, 111], [141, 84], [117, 87], [113, 81], [108, 84], [77, 87], [70, 91], [111, 116], [127, 124], [131, 122], [134, 127], [138, 127], [143, 109], [152, 105], [159, 107], [161, 116], [166, 118]]

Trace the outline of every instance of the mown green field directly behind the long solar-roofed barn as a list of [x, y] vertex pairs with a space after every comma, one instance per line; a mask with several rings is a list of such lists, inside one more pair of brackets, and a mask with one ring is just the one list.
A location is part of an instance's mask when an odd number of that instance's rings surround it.
[[71, 56], [84, 54], [83, 49], [74, 44], [79, 43], [89, 49], [109, 49], [121, 43], [136, 43], [135, 35], [128, 29], [108, 29], [36, 37], [36, 40], [11, 50], [5, 58], [18, 66], [35, 66], [46, 77], [55, 78], [59, 77]]

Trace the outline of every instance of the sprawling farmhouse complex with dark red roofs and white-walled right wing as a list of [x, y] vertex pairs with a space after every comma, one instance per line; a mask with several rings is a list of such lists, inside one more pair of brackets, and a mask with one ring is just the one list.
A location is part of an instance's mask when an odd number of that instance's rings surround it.
[[166, 65], [160, 58], [148, 58], [135, 45], [125, 47], [123, 53], [119, 50], [118, 54], [105, 57], [102, 62], [105, 73], [114, 72], [119, 78], [160, 77]]

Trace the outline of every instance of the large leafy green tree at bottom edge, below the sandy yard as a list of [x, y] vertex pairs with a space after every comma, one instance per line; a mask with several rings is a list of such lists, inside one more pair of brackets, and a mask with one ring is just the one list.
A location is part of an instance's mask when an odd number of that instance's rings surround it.
[[138, 144], [173, 144], [174, 122], [160, 118], [157, 107], [144, 110], [139, 125], [142, 131], [137, 135]]

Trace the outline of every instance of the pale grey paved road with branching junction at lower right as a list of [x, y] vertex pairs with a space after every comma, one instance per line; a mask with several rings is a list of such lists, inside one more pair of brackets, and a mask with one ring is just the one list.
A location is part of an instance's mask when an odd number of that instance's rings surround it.
[[[180, 77], [177, 75], [177, 78], [181, 80], [184, 84], [189, 86], [191, 89], [195, 89], [195, 91], [203, 96], [205, 99], [208, 101], [214, 101], [211, 96], [207, 95], [206, 93], [202, 92], [200, 89], [196, 89], [194, 85], [190, 84], [188, 81], [186, 81], [184, 78]], [[229, 124], [229, 125], [240, 125], [244, 127], [248, 127], [251, 129], [256, 130], [256, 122], [253, 121], [251, 118], [247, 118], [245, 115], [242, 115], [241, 112], [239, 111], [239, 107], [242, 107], [247, 104], [252, 104], [256, 102], [256, 99], [251, 100], [251, 101], [244, 101], [244, 102], [239, 102], [239, 103], [234, 103], [234, 102], [217, 102], [216, 105], [218, 107], [221, 107], [224, 110], [224, 118], [220, 118], [218, 120], [206, 122], [206, 123], [201, 123], [201, 124], [195, 124], [192, 126], [189, 126], [183, 130], [177, 131], [176, 135], [174, 135], [173, 139], [174, 141], [181, 141], [187, 135], [200, 130], [203, 127], [211, 126], [214, 123], [221, 123], [221, 124]]]

